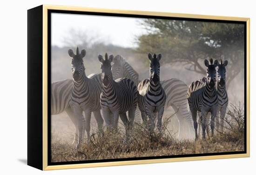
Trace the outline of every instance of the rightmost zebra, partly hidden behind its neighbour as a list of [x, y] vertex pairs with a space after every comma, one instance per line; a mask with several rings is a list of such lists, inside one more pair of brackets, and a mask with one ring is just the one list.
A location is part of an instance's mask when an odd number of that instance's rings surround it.
[[[220, 125], [220, 131], [223, 132], [223, 125], [224, 125], [224, 117], [227, 111], [227, 107], [229, 104], [229, 97], [226, 91], [226, 66], [228, 65], [228, 60], [225, 60], [224, 63], [218, 62], [218, 68], [217, 68], [217, 94], [218, 94], [218, 111], [217, 115], [220, 114], [220, 117], [218, 117], [216, 120], [216, 127], [219, 129]], [[219, 122], [220, 119], [220, 122]]]

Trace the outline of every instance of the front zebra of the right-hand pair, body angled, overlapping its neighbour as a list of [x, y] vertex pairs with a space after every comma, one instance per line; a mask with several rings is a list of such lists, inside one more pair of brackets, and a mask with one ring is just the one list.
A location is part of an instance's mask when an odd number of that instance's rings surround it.
[[194, 81], [189, 85], [188, 89], [188, 103], [189, 109], [194, 121], [195, 129], [195, 140], [197, 140], [197, 121], [196, 114], [197, 111], [201, 112], [200, 120], [202, 121], [202, 138], [205, 138], [206, 129], [206, 119], [207, 113], [211, 112], [211, 135], [214, 134], [214, 120], [218, 108], [218, 95], [216, 92], [216, 66], [218, 65], [218, 60], [210, 59], [210, 64], [208, 60], [204, 60], [204, 64], [207, 67], [207, 81]]

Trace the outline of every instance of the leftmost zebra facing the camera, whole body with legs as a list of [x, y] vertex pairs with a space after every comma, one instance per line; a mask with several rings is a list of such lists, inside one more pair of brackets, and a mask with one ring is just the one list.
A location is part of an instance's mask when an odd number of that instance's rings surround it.
[[[77, 47], [75, 55], [73, 50], [69, 49], [68, 55], [72, 58], [71, 69], [73, 76], [70, 106], [73, 109], [74, 117], [77, 122], [76, 124], [78, 125], [79, 139], [76, 148], [79, 148], [81, 139], [84, 136], [84, 127], [87, 132], [87, 138], [90, 136], [90, 120], [92, 112], [94, 113], [98, 128], [102, 128], [103, 119], [100, 112], [100, 94], [102, 85], [100, 82], [88, 78], [85, 74], [85, 67], [82, 59], [86, 55], [85, 50], [81, 50], [80, 53]], [[85, 113], [85, 120], [82, 118], [83, 111]]]

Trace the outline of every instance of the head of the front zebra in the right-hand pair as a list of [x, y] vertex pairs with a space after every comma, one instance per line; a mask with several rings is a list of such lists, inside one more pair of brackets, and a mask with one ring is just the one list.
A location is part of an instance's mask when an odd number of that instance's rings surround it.
[[216, 82], [216, 66], [218, 65], [218, 60], [215, 60], [213, 63], [212, 58], [210, 59], [210, 64], [208, 60], [204, 60], [204, 65], [207, 67], [207, 83], [211, 88], [215, 87]]

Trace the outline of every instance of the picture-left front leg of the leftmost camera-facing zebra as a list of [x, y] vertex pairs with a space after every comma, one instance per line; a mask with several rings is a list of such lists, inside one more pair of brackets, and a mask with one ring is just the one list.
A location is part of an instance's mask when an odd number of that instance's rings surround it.
[[76, 149], [78, 149], [78, 148], [80, 148], [81, 143], [82, 143], [82, 138], [84, 137], [84, 130], [83, 130], [84, 120], [82, 118], [83, 111], [81, 110], [80, 107], [77, 107], [77, 106], [72, 106], [72, 108], [73, 108], [75, 120], [78, 124], [79, 139], [78, 139], [78, 142], [76, 144]]

